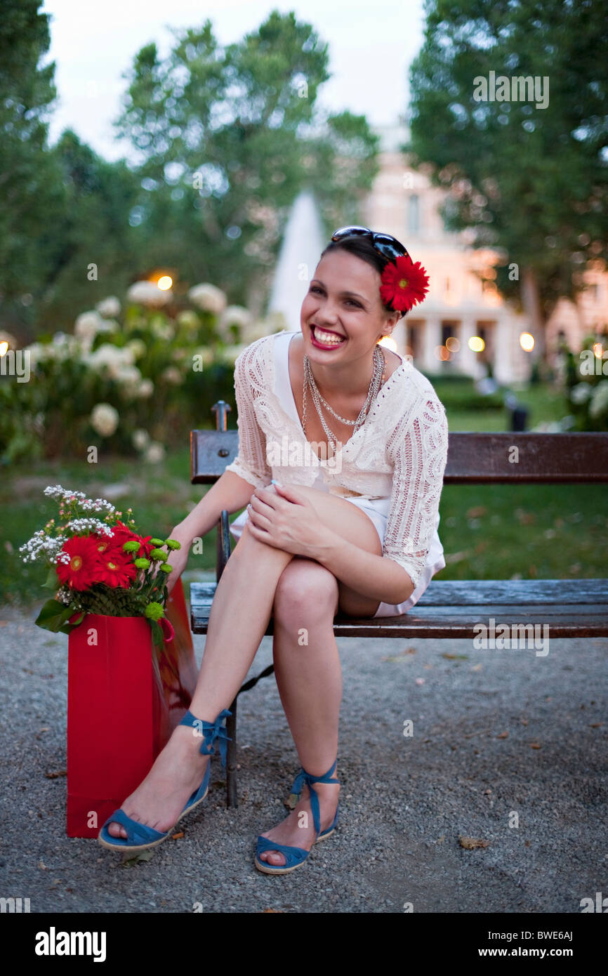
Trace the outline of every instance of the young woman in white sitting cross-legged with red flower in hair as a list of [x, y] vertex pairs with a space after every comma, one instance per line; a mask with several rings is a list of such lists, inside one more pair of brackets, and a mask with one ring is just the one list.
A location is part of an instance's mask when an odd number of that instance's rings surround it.
[[[444, 408], [379, 340], [424, 298], [405, 248], [367, 227], [336, 231], [310, 281], [301, 333], [252, 343], [235, 363], [239, 453], [173, 529], [169, 587], [223, 508], [247, 506], [211, 608], [190, 711], [142, 785], [108, 819], [105, 846], [141, 850], [200, 803], [223, 718], [273, 617], [281, 702], [302, 770], [292, 813], [258, 838], [267, 874], [300, 867], [338, 820], [342, 671], [336, 614], [406, 612], [445, 565], [437, 535]], [[202, 745], [201, 745], [202, 738]], [[305, 816], [303, 816], [305, 814]]]

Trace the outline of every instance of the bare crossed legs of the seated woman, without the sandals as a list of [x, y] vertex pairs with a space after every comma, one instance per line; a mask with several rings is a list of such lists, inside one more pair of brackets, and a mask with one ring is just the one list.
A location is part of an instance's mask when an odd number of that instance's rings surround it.
[[[311, 493], [319, 518], [333, 531], [362, 549], [382, 554], [378, 533], [360, 508], [314, 488], [300, 490]], [[315, 560], [255, 539], [245, 526], [216, 590], [190, 711], [213, 722], [229, 707], [273, 613], [277, 684], [300, 760], [313, 775], [327, 772], [336, 758], [342, 697], [342, 673], [332, 626], [339, 606], [345, 613], [372, 616], [378, 601], [349, 590]], [[299, 640], [302, 629], [308, 634], [307, 644]], [[208, 756], [200, 755], [199, 746], [200, 739], [190, 728], [178, 726], [141, 786], [123, 803], [127, 816], [157, 831], [169, 830], [188, 796], [200, 786], [209, 762]], [[329, 785], [317, 789], [322, 830], [332, 805], [335, 812], [338, 790]], [[294, 813], [303, 803], [304, 795]], [[331, 822], [333, 813], [329, 819]], [[290, 818], [269, 834], [279, 843], [309, 847], [314, 839], [312, 818], [309, 820], [307, 831], [300, 829], [295, 840], [290, 839], [294, 833], [287, 824]], [[108, 827], [108, 833], [125, 836], [124, 829], [115, 823]], [[263, 860], [284, 863], [283, 855], [272, 851], [264, 854]]]

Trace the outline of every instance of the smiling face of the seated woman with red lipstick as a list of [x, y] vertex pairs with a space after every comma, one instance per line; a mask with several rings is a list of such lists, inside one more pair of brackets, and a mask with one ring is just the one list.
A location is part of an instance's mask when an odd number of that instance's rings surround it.
[[330, 360], [363, 355], [390, 335], [399, 312], [387, 312], [375, 267], [343, 250], [330, 251], [317, 264], [300, 313], [306, 351]]

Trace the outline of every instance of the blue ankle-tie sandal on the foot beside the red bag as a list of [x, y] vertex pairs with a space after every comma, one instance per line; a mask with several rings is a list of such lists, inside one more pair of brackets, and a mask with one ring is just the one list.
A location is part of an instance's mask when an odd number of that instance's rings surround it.
[[[219, 741], [220, 745], [220, 755], [222, 757], [222, 765], [225, 767], [225, 756], [226, 756], [226, 742], [228, 741], [228, 736], [223, 726], [223, 719], [230, 715], [232, 712], [228, 712], [224, 709], [220, 712], [215, 722], [204, 722], [201, 718], [196, 718], [192, 712], [186, 712], [180, 722], [180, 725], [191, 725], [196, 729], [196, 735], [202, 736], [203, 742], [199, 752], [201, 755], [213, 755], [215, 752], [216, 740]], [[146, 850], [148, 847], [156, 847], [157, 844], [162, 844], [163, 840], [167, 840], [168, 837], [173, 834], [175, 828], [177, 827], [179, 821], [186, 813], [190, 813], [194, 807], [198, 806], [205, 799], [205, 796], [209, 792], [209, 776], [211, 770], [211, 761], [207, 763], [207, 769], [205, 770], [205, 775], [203, 777], [203, 782], [201, 783], [198, 790], [190, 796], [187, 803], [182, 809], [182, 813], [176, 820], [173, 827], [166, 831], [164, 834], [160, 831], [155, 831], [153, 827], [146, 827], [145, 824], [138, 823], [137, 820], [132, 820], [128, 817], [124, 810], [115, 810], [111, 817], [108, 817], [103, 827], [101, 828], [98, 840], [103, 845], [103, 847], [109, 847], [111, 850], [119, 851], [142, 851]], [[127, 832], [126, 837], [113, 837], [108, 834], [107, 828], [109, 824], [121, 824], [125, 831]]]

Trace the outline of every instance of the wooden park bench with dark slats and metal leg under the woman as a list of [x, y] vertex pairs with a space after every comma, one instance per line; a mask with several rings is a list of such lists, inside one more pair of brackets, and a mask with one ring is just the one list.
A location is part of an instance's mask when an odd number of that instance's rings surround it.
[[[238, 430], [226, 429], [229, 404], [214, 406], [216, 430], [190, 432], [192, 484], [218, 480], [238, 453]], [[516, 449], [516, 452], [513, 449]], [[517, 458], [515, 461], [514, 459]], [[608, 433], [450, 433], [444, 484], [608, 482]], [[252, 491], [254, 489], [252, 488]], [[216, 580], [230, 555], [228, 512], [218, 522]], [[207, 633], [216, 583], [190, 585], [193, 633]], [[399, 617], [334, 618], [337, 637], [473, 638], [476, 624], [496, 628], [542, 622], [551, 637], [608, 635], [607, 580], [433, 580], [411, 610]], [[266, 634], [271, 634], [272, 618]], [[238, 695], [271, 674], [246, 681]], [[237, 695], [237, 697], [238, 697]], [[236, 708], [227, 719], [226, 802], [236, 806]]]

